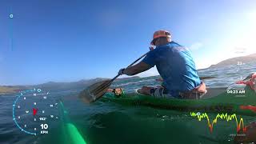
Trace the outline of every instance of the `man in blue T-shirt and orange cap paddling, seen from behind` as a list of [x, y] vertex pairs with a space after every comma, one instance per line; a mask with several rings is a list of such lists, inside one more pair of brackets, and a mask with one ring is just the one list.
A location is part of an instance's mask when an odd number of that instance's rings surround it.
[[118, 74], [134, 75], [156, 66], [163, 79], [162, 87], [143, 86], [141, 94], [156, 98], [198, 98], [206, 94], [206, 85], [200, 81], [190, 51], [171, 40], [170, 32], [154, 32], [146, 57], [134, 66], [119, 70]]

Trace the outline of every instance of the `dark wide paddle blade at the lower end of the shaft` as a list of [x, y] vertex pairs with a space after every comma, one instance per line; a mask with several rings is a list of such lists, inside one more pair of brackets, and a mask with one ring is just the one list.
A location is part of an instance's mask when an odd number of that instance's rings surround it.
[[88, 86], [85, 90], [82, 90], [78, 97], [86, 103], [95, 102], [98, 98], [101, 98], [106, 93], [106, 90], [110, 88], [110, 85], [110, 80], [96, 82], [91, 86]]

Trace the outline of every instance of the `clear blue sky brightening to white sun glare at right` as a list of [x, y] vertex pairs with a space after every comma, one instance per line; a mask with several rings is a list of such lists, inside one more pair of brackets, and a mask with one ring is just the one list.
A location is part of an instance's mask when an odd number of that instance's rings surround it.
[[148, 51], [159, 29], [170, 30], [203, 68], [256, 53], [255, 25], [251, 0], [2, 0], [0, 85], [114, 77]]

